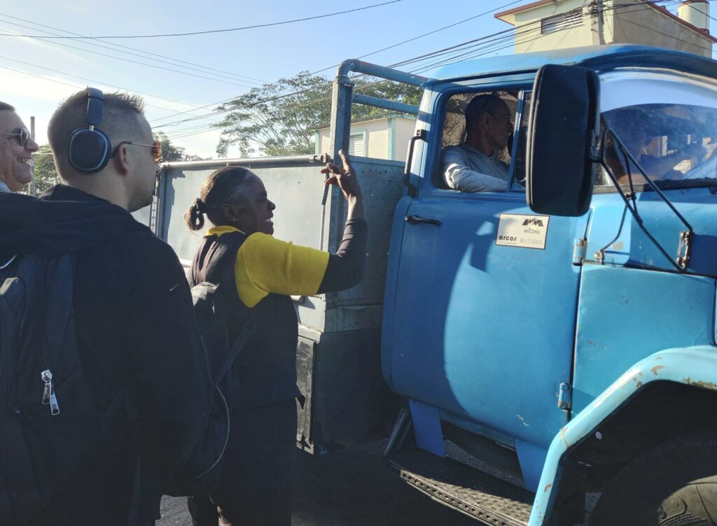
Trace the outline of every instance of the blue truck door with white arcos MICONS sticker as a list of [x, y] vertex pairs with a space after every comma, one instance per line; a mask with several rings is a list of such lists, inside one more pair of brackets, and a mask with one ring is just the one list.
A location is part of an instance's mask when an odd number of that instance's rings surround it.
[[436, 97], [431, 133], [439, 137], [429, 136], [418, 195], [404, 206], [403, 236], [391, 252], [399, 261], [388, 277], [384, 376], [394, 391], [439, 409], [443, 421], [487, 431], [520, 455], [526, 444], [547, 449], [566, 422], [556, 394], [571, 381], [574, 245], [587, 216], [528, 209], [521, 181], [529, 93], [499, 89], [493, 96], [518, 123], [504, 153], [503, 191], [448, 186], [442, 148], [463, 140], [465, 104], [477, 93]]

